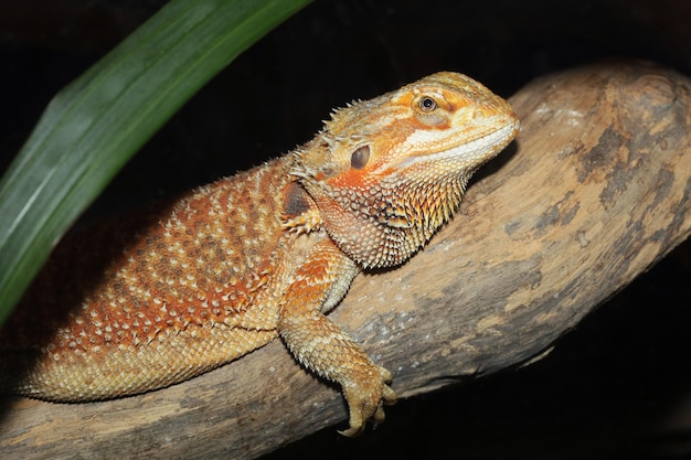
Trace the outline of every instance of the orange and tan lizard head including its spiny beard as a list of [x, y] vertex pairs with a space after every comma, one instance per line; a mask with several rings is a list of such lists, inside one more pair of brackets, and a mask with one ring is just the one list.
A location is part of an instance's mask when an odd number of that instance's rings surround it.
[[364, 268], [394, 266], [450, 217], [468, 179], [518, 130], [506, 100], [443, 72], [334, 111], [291, 172], [341, 250]]

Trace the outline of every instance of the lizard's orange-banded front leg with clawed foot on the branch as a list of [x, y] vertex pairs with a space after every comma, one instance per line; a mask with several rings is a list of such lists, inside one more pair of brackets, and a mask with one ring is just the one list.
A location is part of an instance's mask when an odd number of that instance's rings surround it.
[[392, 376], [325, 315], [346, 295], [359, 271], [355, 263], [328, 239], [319, 242], [307, 260], [285, 292], [278, 330], [300, 363], [341, 385], [350, 409], [350, 428], [342, 434], [357, 436], [368, 420], [383, 421], [383, 405], [395, 403], [387, 385]]

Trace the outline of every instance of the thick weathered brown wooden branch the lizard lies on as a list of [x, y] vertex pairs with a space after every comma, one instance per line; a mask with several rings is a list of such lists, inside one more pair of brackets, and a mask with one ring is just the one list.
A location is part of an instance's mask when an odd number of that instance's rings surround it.
[[[394, 373], [401, 397], [540, 356], [691, 233], [690, 88], [630, 62], [528, 85], [511, 99], [518, 142], [451, 224], [405, 266], [359, 277], [331, 318]], [[338, 388], [276, 341], [142, 396], [3, 397], [0, 452], [253, 458], [346, 417]]]

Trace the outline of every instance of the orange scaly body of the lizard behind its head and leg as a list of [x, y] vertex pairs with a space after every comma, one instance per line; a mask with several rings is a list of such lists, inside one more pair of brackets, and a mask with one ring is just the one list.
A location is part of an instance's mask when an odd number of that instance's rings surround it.
[[[263, 287], [290, 237], [277, 216], [285, 206], [300, 211], [284, 200], [291, 161], [281, 157], [59, 245], [0, 331], [0, 385], [52, 400], [124, 396], [273, 340], [278, 306]], [[261, 314], [248, 315], [257, 302]]]

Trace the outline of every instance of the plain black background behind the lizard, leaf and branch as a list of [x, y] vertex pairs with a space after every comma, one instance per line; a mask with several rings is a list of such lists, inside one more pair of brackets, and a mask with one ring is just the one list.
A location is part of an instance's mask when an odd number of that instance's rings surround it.
[[[0, 170], [50, 98], [162, 4], [0, 0]], [[308, 140], [332, 107], [436, 71], [466, 73], [508, 97], [532, 78], [612, 57], [689, 75], [691, 2], [316, 1], [200, 92], [87, 218], [258, 164]], [[359, 439], [329, 428], [267, 458], [691, 457], [690, 246], [539, 363], [403, 400]]]

